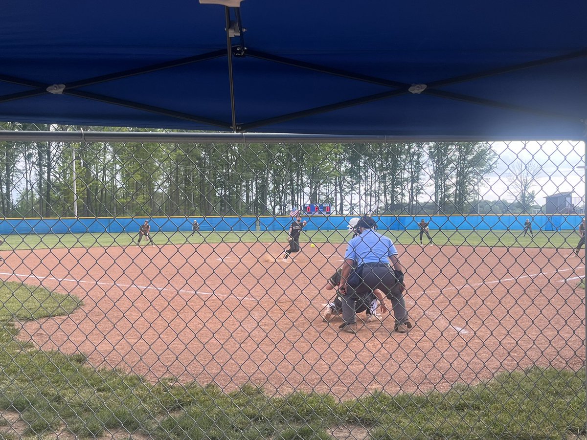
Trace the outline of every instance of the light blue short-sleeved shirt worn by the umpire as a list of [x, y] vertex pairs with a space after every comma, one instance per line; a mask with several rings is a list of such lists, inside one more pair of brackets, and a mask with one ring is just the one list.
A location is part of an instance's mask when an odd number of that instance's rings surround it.
[[366, 229], [349, 241], [345, 259], [355, 260], [360, 266], [365, 263], [389, 263], [392, 255], [397, 255], [397, 249], [391, 239], [373, 229]]

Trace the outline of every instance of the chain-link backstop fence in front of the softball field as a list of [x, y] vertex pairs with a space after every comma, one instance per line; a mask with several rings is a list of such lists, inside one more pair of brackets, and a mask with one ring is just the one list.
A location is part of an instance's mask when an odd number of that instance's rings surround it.
[[585, 432], [583, 143], [0, 149], [0, 438]]

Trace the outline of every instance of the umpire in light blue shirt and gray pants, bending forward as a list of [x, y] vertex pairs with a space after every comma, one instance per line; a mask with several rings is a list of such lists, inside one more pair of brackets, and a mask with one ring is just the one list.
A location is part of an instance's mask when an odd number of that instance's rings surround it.
[[[396, 246], [391, 239], [375, 232], [377, 224], [370, 216], [361, 218], [357, 228], [360, 233], [349, 241], [342, 268], [339, 292], [342, 295], [342, 319], [345, 322], [340, 328], [348, 333], [356, 333], [356, 303], [367, 303], [371, 292], [379, 289], [392, 302], [396, 318], [393, 330], [407, 333], [412, 324], [403, 298], [404, 270], [397, 257]], [[357, 268], [352, 271], [355, 264]]]

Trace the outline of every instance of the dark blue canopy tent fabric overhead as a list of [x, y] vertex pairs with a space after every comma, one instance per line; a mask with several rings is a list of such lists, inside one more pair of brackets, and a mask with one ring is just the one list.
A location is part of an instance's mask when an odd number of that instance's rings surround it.
[[0, 120], [585, 137], [587, 2], [9, 0], [2, 15]]

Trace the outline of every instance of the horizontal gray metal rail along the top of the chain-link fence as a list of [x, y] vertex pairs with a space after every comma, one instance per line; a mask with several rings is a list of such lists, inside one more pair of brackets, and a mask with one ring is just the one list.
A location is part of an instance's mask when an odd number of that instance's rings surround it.
[[[407, 142], [498, 142], [498, 141], [558, 140], [528, 139], [527, 136], [384, 136], [343, 134], [290, 134], [290, 133], [203, 133], [153, 131], [0, 131], [0, 142], [173, 142], [173, 143], [407, 143]], [[569, 138], [581, 141], [582, 138]]]

